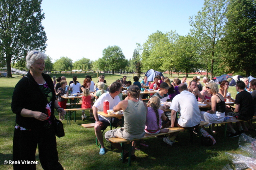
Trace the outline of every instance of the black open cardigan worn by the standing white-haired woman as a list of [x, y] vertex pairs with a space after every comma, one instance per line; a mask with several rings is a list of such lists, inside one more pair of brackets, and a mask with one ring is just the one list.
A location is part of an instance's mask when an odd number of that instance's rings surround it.
[[[20, 115], [20, 112], [23, 108], [29, 109], [32, 111], [40, 111], [45, 113], [45, 107], [48, 103], [46, 98], [39, 89], [39, 85], [37, 85], [33, 76], [30, 74], [30, 71], [26, 74], [28, 78], [23, 77], [15, 86], [14, 92], [12, 95], [12, 111], [16, 114], [16, 124], [30, 130], [40, 130], [45, 129], [45, 121], [52, 122], [53, 118], [50, 117], [49, 120], [39, 121], [34, 117], [23, 117]], [[51, 111], [54, 114], [54, 102], [56, 100], [54, 85], [52, 82], [52, 78], [48, 74], [42, 73], [44, 80], [48, 84], [48, 87], [52, 91], [52, 106]]]

